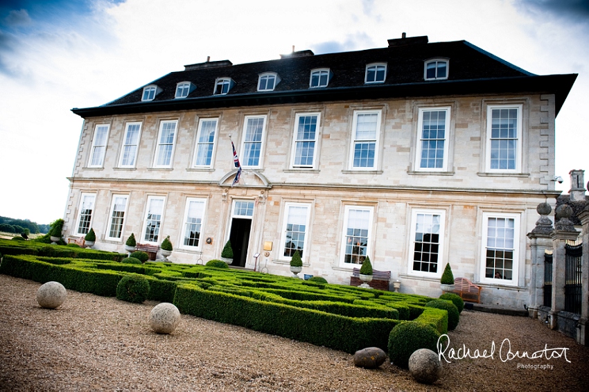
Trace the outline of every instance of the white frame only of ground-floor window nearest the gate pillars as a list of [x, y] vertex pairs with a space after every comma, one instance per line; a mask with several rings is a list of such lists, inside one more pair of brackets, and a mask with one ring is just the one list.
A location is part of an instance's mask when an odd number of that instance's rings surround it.
[[[486, 277], [486, 249], [489, 239], [489, 219], [503, 218], [513, 220], [513, 260], [511, 268], [511, 280], [504, 278], [487, 278]], [[491, 283], [495, 285], [517, 286], [519, 281], [520, 267], [520, 224], [521, 213], [498, 213], [486, 211], [482, 214], [482, 235], [481, 235], [481, 255], [480, 255], [480, 282]], [[507, 249], [506, 247], [498, 249]]]

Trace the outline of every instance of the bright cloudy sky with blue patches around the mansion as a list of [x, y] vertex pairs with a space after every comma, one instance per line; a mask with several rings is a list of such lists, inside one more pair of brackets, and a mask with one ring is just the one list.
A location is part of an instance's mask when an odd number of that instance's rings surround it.
[[[537, 74], [579, 73], [556, 118], [556, 174], [589, 170], [589, 0], [82, 0], [0, 3], [0, 215], [64, 215], [82, 118], [184, 64], [466, 39]], [[586, 180], [589, 179], [589, 171]]]

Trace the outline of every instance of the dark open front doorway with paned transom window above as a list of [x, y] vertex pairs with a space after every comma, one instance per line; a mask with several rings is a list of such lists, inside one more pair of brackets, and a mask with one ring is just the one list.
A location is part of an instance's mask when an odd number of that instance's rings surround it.
[[254, 216], [254, 202], [245, 200], [234, 201], [231, 211], [231, 231], [229, 241], [233, 249], [231, 265], [245, 267], [247, 261], [247, 247], [249, 233], [252, 231], [252, 217]]

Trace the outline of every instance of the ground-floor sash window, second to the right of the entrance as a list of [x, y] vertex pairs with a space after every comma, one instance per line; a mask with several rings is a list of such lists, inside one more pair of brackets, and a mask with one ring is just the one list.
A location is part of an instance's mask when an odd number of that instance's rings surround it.
[[346, 206], [344, 211], [343, 266], [361, 265], [369, 255], [373, 208]]

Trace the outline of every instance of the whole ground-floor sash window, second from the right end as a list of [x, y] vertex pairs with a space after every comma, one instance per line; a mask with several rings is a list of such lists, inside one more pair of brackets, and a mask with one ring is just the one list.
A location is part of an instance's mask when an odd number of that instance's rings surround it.
[[414, 210], [411, 223], [410, 271], [422, 276], [441, 273], [445, 211]]

